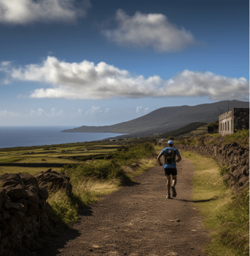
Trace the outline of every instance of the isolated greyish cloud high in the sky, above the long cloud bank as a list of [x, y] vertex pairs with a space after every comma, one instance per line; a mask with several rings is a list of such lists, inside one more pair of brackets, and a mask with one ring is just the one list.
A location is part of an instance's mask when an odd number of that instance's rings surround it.
[[189, 31], [179, 29], [161, 13], [136, 12], [130, 17], [119, 9], [116, 11], [115, 20], [118, 27], [102, 30], [102, 34], [119, 45], [153, 47], [157, 52], [174, 52], [195, 43]]

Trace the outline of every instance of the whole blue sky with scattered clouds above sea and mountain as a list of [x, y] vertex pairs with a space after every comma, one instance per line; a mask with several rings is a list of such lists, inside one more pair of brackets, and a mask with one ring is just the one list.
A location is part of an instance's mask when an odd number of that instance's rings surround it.
[[249, 101], [245, 0], [0, 0], [0, 33], [0, 125]]

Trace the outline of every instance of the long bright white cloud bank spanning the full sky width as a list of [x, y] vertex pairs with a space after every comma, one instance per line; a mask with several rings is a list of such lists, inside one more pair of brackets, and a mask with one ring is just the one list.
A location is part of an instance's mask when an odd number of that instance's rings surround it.
[[211, 100], [249, 100], [249, 81], [245, 77], [231, 78], [210, 71], [184, 70], [170, 79], [154, 75], [133, 76], [105, 62], [84, 60], [80, 63], [47, 57], [41, 64], [15, 68], [4, 62], [0, 67], [4, 81], [45, 83], [50, 88], [35, 89], [31, 98], [111, 99], [143, 97], [200, 97]]

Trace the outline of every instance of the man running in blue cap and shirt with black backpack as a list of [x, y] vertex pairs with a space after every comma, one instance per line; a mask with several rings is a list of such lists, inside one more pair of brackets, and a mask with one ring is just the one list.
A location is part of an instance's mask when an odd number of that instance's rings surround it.
[[[164, 148], [161, 153], [159, 154], [159, 156], [157, 157], [157, 160], [160, 164], [160, 166], [162, 166], [161, 163], [161, 156], [164, 155], [164, 171], [165, 171], [165, 175], [167, 178], [166, 181], [166, 187], [168, 188], [168, 195], [166, 196], [166, 198], [170, 198], [170, 187], [171, 187], [171, 176], [172, 176], [172, 196], [176, 197], [177, 193], [176, 193], [176, 182], [177, 182], [177, 169], [176, 169], [176, 162], [179, 163], [181, 161], [181, 156], [180, 153], [178, 151], [178, 149], [173, 148], [173, 141], [169, 140], [168, 141], [168, 147]], [[176, 160], [176, 156], [178, 156], [178, 160]]]

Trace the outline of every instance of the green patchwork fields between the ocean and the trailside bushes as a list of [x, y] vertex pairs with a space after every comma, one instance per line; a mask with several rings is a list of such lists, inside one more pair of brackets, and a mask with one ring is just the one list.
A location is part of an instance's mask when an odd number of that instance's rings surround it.
[[[80, 145], [79, 145], [80, 144]], [[81, 164], [82, 157], [93, 159], [98, 155], [109, 155], [122, 146], [122, 143], [93, 142], [93, 143], [69, 143], [51, 146], [18, 147], [0, 149], [0, 174], [28, 172], [31, 174], [46, 171], [48, 167], [21, 167], [15, 164], [26, 163], [53, 163], [53, 164]], [[12, 166], [7, 164], [12, 163]], [[4, 165], [6, 164], [6, 165]], [[60, 171], [60, 167], [53, 167], [54, 171]]]

